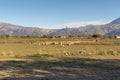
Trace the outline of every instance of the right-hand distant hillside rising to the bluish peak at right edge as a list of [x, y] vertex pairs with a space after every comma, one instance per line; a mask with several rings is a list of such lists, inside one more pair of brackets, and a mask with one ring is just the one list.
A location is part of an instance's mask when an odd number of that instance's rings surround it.
[[120, 35], [120, 18], [105, 25], [88, 25], [79, 28], [60, 29], [51, 35], [80, 35], [89, 36], [93, 34], [101, 35]]

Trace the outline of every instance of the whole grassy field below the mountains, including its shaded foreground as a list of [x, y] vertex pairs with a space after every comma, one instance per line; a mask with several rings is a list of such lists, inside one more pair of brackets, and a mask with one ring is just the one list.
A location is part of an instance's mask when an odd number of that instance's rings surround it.
[[0, 38], [0, 80], [120, 80], [120, 40]]

